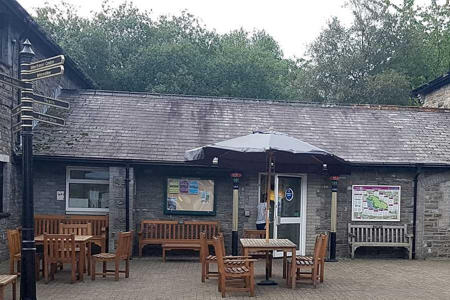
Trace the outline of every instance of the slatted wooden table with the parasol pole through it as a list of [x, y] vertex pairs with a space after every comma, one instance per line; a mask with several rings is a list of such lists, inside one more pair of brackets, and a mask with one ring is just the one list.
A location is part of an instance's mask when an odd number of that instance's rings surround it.
[[[265, 238], [241, 238], [240, 243], [244, 256], [248, 255], [249, 252], [283, 251], [283, 278], [286, 274], [287, 252], [291, 252], [295, 256], [297, 249], [297, 245], [287, 238], [269, 238], [268, 242], [265, 241]], [[266, 266], [268, 263], [266, 257]], [[268, 267], [265, 268], [265, 272], [265, 277], [268, 278]], [[290, 275], [292, 276], [292, 288], [295, 288], [295, 263], [292, 263]]]

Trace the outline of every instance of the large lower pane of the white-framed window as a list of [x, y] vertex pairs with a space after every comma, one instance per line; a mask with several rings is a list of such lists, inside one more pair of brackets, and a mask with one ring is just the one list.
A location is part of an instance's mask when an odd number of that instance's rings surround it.
[[69, 184], [69, 207], [108, 208], [108, 196], [109, 184]]

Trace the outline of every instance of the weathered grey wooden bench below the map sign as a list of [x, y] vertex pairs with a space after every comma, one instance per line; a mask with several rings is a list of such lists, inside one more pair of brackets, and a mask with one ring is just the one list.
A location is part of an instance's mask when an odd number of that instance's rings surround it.
[[412, 259], [412, 234], [404, 225], [360, 225], [348, 223], [348, 244], [351, 258], [358, 247], [405, 247]]

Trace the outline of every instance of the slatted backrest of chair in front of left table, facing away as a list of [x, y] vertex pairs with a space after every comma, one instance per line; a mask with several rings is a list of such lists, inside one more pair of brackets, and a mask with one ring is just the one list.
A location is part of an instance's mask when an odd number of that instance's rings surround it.
[[75, 234], [43, 234], [44, 261], [75, 262]]

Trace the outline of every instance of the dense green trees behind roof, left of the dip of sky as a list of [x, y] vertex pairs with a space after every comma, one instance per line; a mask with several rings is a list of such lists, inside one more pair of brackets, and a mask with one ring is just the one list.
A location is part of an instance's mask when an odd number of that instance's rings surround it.
[[62, 3], [37, 21], [104, 89], [292, 99], [295, 63], [264, 31], [217, 34], [191, 14], [153, 20], [124, 2], [91, 18]]

